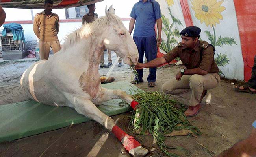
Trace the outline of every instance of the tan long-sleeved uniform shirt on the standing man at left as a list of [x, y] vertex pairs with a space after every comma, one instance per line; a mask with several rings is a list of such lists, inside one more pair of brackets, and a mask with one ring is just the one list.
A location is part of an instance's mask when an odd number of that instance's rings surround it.
[[33, 31], [40, 41], [49, 42], [58, 40], [59, 16], [52, 13], [48, 17], [45, 15], [45, 11], [38, 13], [34, 18]]

